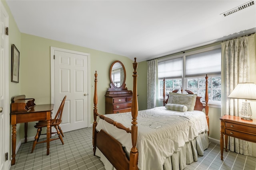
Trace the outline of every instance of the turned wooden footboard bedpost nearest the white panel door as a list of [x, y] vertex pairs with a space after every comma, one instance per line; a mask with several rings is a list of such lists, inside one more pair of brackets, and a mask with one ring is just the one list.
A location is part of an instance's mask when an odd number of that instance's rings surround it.
[[98, 107], [97, 107], [97, 104], [98, 104], [98, 95], [97, 95], [97, 71], [95, 71], [95, 79], [94, 79], [94, 98], [93, 98], [93, 102], [94, 102], [94, 109], [93, 109], [93, 117], [94, 117], [94, 122], [93, 122], [93, 125], [92, 125], [92, 145], [93, 145], [93, 154], [95, 155], [95, 152], [96, 152], [96, 126], [97, 126], [97, 113], [98, 113]]

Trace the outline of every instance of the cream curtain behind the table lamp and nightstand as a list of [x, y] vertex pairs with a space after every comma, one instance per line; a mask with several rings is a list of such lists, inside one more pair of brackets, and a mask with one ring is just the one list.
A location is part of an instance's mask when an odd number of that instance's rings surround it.
[[[228, 99], [240, 82], [255, 81], [255, 37], [238, 37], [222, 44], [222, 115], [240, 116], [242, 100]], [[254, 80], [253, 80], [254, 79]], [[255, 116], [255, 115], [254, 115]], [[230, 151], [256, 156], [256, 144], [230, 137]]]

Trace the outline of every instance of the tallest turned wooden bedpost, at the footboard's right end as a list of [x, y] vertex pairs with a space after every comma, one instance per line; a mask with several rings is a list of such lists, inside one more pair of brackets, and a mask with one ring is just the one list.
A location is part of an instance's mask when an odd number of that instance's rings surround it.
[[137, 136], [138, 136], [138, 98], [137, 98], [137, 68], [138, 63], [136, 58], [134, 58], [134, 63], [132, 63], [134, 68], [133, 71], [133, 94], [132, 94], [132, 149], [130, 151], [130, 170], [138, 170], [138, 149], [136, 148]]

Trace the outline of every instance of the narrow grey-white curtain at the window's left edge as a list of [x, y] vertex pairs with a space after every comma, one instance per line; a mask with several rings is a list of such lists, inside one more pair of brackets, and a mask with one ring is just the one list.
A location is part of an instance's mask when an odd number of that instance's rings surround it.
[[148, 109], [156, 107], [157, 59], [148, 61]]

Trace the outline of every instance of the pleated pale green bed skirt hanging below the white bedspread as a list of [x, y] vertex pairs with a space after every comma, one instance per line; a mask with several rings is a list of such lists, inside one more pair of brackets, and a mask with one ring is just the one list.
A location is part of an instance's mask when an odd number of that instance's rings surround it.
[[[204, 150], [208, 146], [208, 132], [199, 134], [194, 140], [185, 143], [178, 152], [174, 152], [172, 156], [166, 158], [162, 170], [183, 170], [187, 164], [197, 161], [198, 155], [203, 156]], [[96, 149], [95, 154], [100, 157], [106, 170], [116, 170], [99, 149]]]

